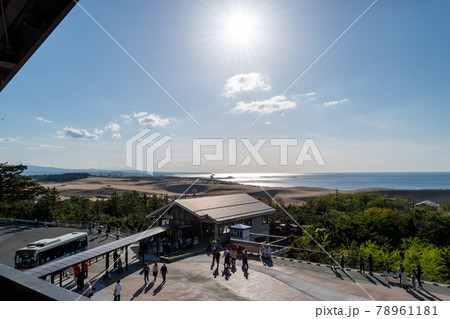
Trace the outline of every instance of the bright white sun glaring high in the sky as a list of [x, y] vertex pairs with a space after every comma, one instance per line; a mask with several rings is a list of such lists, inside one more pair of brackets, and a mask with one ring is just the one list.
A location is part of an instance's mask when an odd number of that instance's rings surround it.
[[248, 44], [257, 34], [255, 16], [245, 12], [235, 12], [225, 19], [224, 35], [236, 44]]

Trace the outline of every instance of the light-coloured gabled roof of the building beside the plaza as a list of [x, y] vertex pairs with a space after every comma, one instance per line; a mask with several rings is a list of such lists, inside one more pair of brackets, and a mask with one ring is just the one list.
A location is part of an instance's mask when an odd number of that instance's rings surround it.
[[215, 223], [251, 218], [275, 212], [275, 209], [248, 194], [234, 194], [177, 199], [148, 214], [147, 217], [163, 213], [173, 205], [183, 208], [200, 219], [209, 218]]

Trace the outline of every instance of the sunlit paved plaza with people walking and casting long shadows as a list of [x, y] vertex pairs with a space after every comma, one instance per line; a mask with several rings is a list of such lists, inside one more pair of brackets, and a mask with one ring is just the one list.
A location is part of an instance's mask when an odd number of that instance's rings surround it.
[[[137, 247], [134, 248], [136, 250]], [[135, 256], [130, 253], [131, 256]], [[147, 255], [148, 262], [157, 261]], [[236, 268], [224, 270], [223, 259], [217, 268], [211, 264], [212, 256], [201, 254], [167, 264], [166, 283], [158, 274], [155, 282], [144, 284], [142, 263], [133, 259], [123, 274], [111, 272], [111, 279], [99, 279], [93, 300], [113, 300], [117, 279], [121, 280], [122, 301], [153, 300], [450, 300], [450, 288], [424, 284], [424, 289], [406, 291], [397, 279], [376, 275], [363, 276], [350, 271], [349, 277], [342, 271], [333, 272], [329, 267], [296, 261], [274, 259], [263, 264], [254, 258], [249, 260], [249, 270], [243, 271], [241, 261]], [[150, 264], [150, 269], [151, 269]], [[158, 262], [159, 269], [162, 264]], [[90, 278], [104, 269], [104, 262], [91, 266]], [[150, 280], [153, 280], [150, 271]], [[370, 296], [369, 296], [370, 294]]]

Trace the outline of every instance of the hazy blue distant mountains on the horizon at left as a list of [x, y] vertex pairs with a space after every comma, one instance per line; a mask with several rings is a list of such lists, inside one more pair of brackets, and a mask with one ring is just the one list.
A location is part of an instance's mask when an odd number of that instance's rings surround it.
[[[24, 172], [24, 175], [54, 175], [65, 173], [89, 173], [91, 175], [100, 176], [149, 176], [145, 172], [136, 171], [132, 169], [124, 170], [106, 170], [106, 169], [68, 169], [58, 167], [45, 167], [36, 165], [27, 165], [28, 169]], [[168, 172], [155, 172], [153, 176], [173, 176], [173, 173]]]

